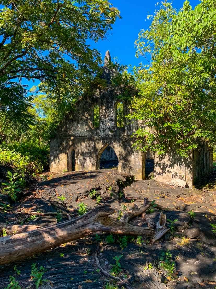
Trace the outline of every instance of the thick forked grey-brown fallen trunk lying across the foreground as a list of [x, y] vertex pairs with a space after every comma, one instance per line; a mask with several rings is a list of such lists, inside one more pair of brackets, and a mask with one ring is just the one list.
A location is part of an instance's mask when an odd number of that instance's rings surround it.
[[71, 220], [33, 231], [0, 238], [0, 265], [18, 261], [67, 242], [101, 231], [124, 235], [153, 236], [154, 230], [132, 226], [109, 218], [114, 210], [109, 204]]

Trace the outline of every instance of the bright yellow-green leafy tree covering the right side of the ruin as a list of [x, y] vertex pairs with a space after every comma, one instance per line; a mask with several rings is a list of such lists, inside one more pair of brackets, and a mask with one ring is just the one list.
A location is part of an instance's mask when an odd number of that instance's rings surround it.
[[150, 18], [135, 42], [137, 56], [149, 61], [135, 69], [139, 96], [129, 118], [143, 123], [136, 145], [159, 154], [175, 147], [187, 156], [215, 140], [216, 4], [202, 0], [193, 10], [185, 1], [177, 13], [165, 1]]

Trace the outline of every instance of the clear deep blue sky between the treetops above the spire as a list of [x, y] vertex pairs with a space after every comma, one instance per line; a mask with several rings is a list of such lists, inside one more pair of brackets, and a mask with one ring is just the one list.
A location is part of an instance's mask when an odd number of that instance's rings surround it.
[[[117, 7], [122, 19], [117, 20], [113, 25], [106, 40], [100, 40], [92, 44], [92, 48], [100, 51], [102, 58], [105, 56], [107, 50], [110, 51], [111, 57], [117, 57], [120, 64], [138, 65], [140, 62], [145, 62], [142, 58], [136, 58], [134, 41], [141, 29], [148, 29], [151, 20], [147, 20], [148, 14], [153, 14], [156, 9], [156, 0], [110, 0], [114, 7]], [[183, 6], [184, 0], [173, 0], [173, 7], [179, 10]], [[194, 8], [200, 3], [199, 0], [191, 0], [190, 5]], [[92, 42], [89, 42], [91, 44]], [[39, 84], [39, 81], [27, 82], [23, 80], [24, 84], [28, 84], [29, 88], [33, 85]]]

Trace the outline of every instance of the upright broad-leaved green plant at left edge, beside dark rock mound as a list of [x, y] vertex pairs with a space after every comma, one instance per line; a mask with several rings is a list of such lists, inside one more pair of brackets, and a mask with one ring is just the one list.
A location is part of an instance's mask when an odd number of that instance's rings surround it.
[[12, 201], [16, 201], [17, 200], [17, 193], [20, 192], [20, 182], [16, 181], [16, 179], [19, 177], [18, 173], [15, 173], [14, 175], [12, 175], [12, 173], [10, 171], [7, 171], [7, 176], [8, 178], [8, 182], [6, 183], [2, 183], [2, 185], [6, 186], [5, 188], [3, 188], [3, 192], [5, 192], [5, 194], [8, 194], [9, 197], [12, 199]]

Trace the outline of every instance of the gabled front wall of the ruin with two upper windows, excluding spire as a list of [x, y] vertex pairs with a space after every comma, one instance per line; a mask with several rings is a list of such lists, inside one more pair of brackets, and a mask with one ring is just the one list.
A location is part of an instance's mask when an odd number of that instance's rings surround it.
[[[50, 142], [50, 171], [62, 172], [68, 167], [68, 151], [71, 146], [76, 155], [76, 171], [95, 170], [98, 153], [104, 145], [110, 145], [119, 160], [118, 170], [136, 179], [143, 178], [142, 153], [132, 147], [130, 136], [137, 126], [125, 120], [124, 127], [116, 127], [118, 91], [97, 91], [93, 97], [84, 96], [77, 109], [71, 112], [56, 131]], [[123, 102], [123, 101], [122, 101]], [[124, 114], [129, 113], [124, 103]], [[93, 127], [94, 106], [100, 108], [100, 126]]]

